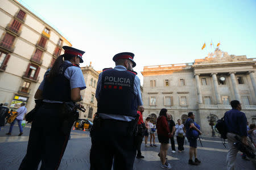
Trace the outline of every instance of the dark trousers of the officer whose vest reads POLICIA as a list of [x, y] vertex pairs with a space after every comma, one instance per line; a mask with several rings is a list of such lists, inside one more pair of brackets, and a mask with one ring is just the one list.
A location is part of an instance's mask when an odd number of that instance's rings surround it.
[[[130, 122], [102, 120], [91, 131], [90, 170], [131, 170], [137, 152], [135, 135], [130, 136]], [[114, 163], [113, 163], [114, 159]]]

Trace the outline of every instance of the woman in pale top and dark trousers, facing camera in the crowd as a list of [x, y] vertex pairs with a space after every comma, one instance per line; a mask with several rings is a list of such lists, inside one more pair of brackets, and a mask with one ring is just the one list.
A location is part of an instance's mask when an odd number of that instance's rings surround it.
[[185, 138], [185, 128], [184, 125], [181, 124], [180, 119], [177, 120], [177, 124], [175, 126], [176, 129], [176, 137], [177, 137], [177, 144], [178, 144], [178, 152], [182, 152], [184, 150], [184, 138]]

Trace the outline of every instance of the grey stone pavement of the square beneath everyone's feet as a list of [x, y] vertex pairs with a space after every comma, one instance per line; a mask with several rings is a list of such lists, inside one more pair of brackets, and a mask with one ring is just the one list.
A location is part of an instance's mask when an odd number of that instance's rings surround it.
[[[2, 127], [0, 131], [0, 170], [18, 169], [26, 153], [30, 126], [26, 125], [24, 134], [21, 137], [18, 137], [18, 126], [14, 126], [13, 134], [10, 137], [6, 136], [5, 133], [9, 131], [9, 127], [9, 125]], [[197, 146], [199, 146], [197, 150], [198, 158], [202, 162], [198, 166], [188, 165], [189, 146], [185, 145], [185, 151], [182, 153], [172, 153], [170, 147], [167, 158], [168, 163], [173, 167], [172, 169], [226, 169], [226, 154], [228, 150], [222, 145], [220, 138], [204, 137], [202, 142], [203, 147], [201, 147], [200, 142], [197, 143]], [[89, 169], [90, 145], [89, 131], [72, 130], [71, 140], [68, 142], [59, 169]], [[156, 145], [158, 147], [145, 147], [144, 143], [142, 143], [142, 154], [145, 158], [135, 158], [134, 169], [162, 169], [160, 168], [160, 159], [157, 156], [160, 147], [157, 137]], [[250, 161], [241, 159], [240, 153], [237, 154], [236, 169], [250, 170], [254, 169], [254, 167]]]

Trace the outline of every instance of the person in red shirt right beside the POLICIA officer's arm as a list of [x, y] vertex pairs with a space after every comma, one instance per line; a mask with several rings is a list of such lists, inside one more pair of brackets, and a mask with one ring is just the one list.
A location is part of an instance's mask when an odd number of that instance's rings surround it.
[[143, 122], [143, 116], [142, 116], [143, 112], [144, 112], [144, 108], [142, 106], [140, 106], [137, 111], [137, 113], [139, 114], [139, 120], [137, 123], [138, 133], [136, 136], [136, 141], [137, 141], [137, 156], [136, 156], [136, 158], [138, 158], [138, 159], [144, 158], [144, 156], [142, 156], [142, 154], [141, 154], [141, 143], [143, 140], [144, 129], [145, 129], [145, 124]]

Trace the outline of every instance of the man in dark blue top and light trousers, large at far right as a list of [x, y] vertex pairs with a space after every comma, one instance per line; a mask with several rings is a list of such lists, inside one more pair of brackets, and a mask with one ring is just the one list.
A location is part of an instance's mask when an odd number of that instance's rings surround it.
[[226, 137], [228, 138], [229, 151], [226, 156], [226, 163], [228, 169], [234, 169], [234, 164], [237, 158], [238, 149], [233, 145], [236, 142], [236, 135], [240, 136], [242, 143], [248, 145], [247, 143], [247, 118], [245, 113], [241, 112], [241, 104], [238, 100], [233, 100], [230, 102], [232, 109], [227, 111], [224, 115], [224, 122], [227, 129]]

